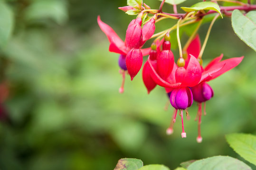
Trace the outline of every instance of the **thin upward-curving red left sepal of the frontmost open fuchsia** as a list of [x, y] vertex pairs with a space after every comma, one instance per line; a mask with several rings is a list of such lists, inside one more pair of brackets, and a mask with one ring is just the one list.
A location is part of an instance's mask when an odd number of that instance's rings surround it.
[[163, 80], [156, 72], [156, 70], [153, 68], [151, 60], [148, 58], [149, 66], [151, 68], [151, 77], [154, 80], [154, 82], [157, 85], [160, 85], [162, 87], [179, 87], [181, 83], [175, 83], [175, 84], [170, 84], [169, 82]]

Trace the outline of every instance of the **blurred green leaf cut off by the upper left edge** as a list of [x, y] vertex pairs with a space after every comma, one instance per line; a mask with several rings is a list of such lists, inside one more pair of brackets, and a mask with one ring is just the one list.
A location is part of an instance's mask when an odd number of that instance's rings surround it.
[[0, 1], [0, 48], [6, 45], [13, 29], [13, 13], [9, 7]]

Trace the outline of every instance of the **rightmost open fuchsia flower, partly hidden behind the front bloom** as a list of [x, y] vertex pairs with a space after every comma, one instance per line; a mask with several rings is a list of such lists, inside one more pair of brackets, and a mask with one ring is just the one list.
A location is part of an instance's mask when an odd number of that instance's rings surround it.
[[[195, 57], [198, 58], [200, 49], [201, 49], [200, 39], [199, 39], [199, 35], [197, 35], [195, 37], [195, 39], [190, 43], [190, 45], [187, 49], [187, 53], [194, 54]], [[209, 84], [207, 84], [207, 82], [222, 75], [223, 73], [227, 72], [228, 70], [235, 68], [243, 59], [243, 57], [238, 57], [238, 58], [231, 58], [231, 59], [225, 59], [223, 61], [220, 61], [222, 59], [222, 57], [223, 57], [223, 54], [221, 54], [219, 57], [210, 61], [209, 64], [205, 68], [201, 67], [202, 74], [204, 74], [204, 75], [205, 75], [205, 73], [209, 72], [209, 70], [218, 69], [218, 71], [215, 71], [215, 72], [209, 74], [208, 77], [204, 77], [203, 80], [200, 81], [200, 83], [198, 85], [191, 86], [193, 99], [196, 102], [198, 102], [198, 106], [199, 106], [198, 114], [197, 114], [197, 118], [196, 118], [196, 119], [198, 119], [198, 137], [197, 137], [198, 143], [202, 142], [201, 130], [200, 130], [201, 116], [202, 116], [202, 102], [204, 102], [204, 114], [206, 114], [205, 102], [210, 100], [214, 95], [214, 92], [213, 92], [211, 86]]]

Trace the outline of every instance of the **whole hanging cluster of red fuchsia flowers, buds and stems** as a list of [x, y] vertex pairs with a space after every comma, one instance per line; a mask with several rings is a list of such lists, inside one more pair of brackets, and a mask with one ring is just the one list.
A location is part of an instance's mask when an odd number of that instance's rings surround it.
[[[245, 33], [241, 35], [241, 31], [236, 31], [237, 26], [234, 26], [237, 23], [237, 19], [241, 19], [239, 17], [237, 18], [236, 15], [241, 14], [242, 18], [252, 18], [256, 16], [256, 11], [251, 10], [256, 9], [256, 5], [251, 5], [250, 1], [243, 3], [235, 0], [219, 0], [238, 4], [238, 6], [220, 7], [217, 0], [211, 0], [196, 3], [190, 8], [181, 7], [186, 13], [177, 13], [176, 5], [183, 1], [185, 0], [162, 0], [159, 9], [151, 9], [151, 7], [143, 3], [142, 0], [127, 0], [128, 6], [120, 7], [119, 9], [129, 15], [137, 15], [137, 17], [133, 19], [127, 27], [124, 42], [110, 26], [101, 21], [100, 17], [98, 17], [98, 24], [108, 37], [110, 42], [109, 51], [120, 54], [118, 64], [121, 68], [120, 73], [123, 75], [123, 82], [119, 92], [123, 93], [124, 91], [125, 73], [127, 72], [131, 80], [133, 80], [142, 68], [143, 56], [149, 55], [142, 69], [144, 85], [148, 93], [150, 93], [156, 85], [164, 87], [170, 98], [170, 103], [175, 109], [171, 125], [166, 133], [168, 135], [173, 133], [173, 123], [176, 121], [176, 115], [179, 110], [182, 122], [181, 136], [186, 137], [183, 125], [183, 110], [185, 110], [186, 115], [189, 116], [188, 108], [192, 105], [193, 101], [196, 101], [198, 102], [198, 113], [196, 117], [196, 120], [198, 120], [197, 142], [200, 143], [202, 141], [200, 133], [202, 112], [206, 115], [205, 102], [210, 100], [214, 95], [213, 89], [207, 82], [235, 68], [244, 58], [244, 56], [242, 56], [221, 60], [223, 57], [223, 54], [221, 54], [219, 57], [212, 59], [206, 67], [203, 67], [203, 52], [211, 28], [218, 17], [222, 17], [222, 14], [229, 17], [231, 13], [228, 11], [233, 11], [232, 23], [234, 30], [237, 35], [240, 38], [242, 37], [241, 39], [247, 43], [247, 35], [246, 37], [244, 36]], [[165, 2], [171, 3], [174, 13], [162, 11], [162, 6]], [[244, 14], [238, 9], [243, 10]], [[208, 15], [213, 15], [213, 18], [201, 47], [198, 30], [204, 18]], [[233, 16], [236, 18], [234, 19]], [[177, 24], [167, 30], [154, 34], [156, 28], [155, 23], [166, 18], [178, 20]], [[254, 20], [251, 20], [251, 22], [254, 22]], [[196, 28], [182, 48], [179, 33], [180, 27], [191, 24], [196, 24]], [[242, 29], [247, 29], [249, 31], [247, 34], [253, 34], [250, 31], [253, 31], [251, 29], [254, 27], [255, 25], [248, 26], [244, 24]], [[170, 37], [170, 33], [175, 29], [177, 36]], [[253, 37], [255, 37], [255, 34], [253, 34]], [[144, 43], [152, 38], [155, 39], [152, 42], [151, 48], [142, 48]], [[174, 55], [171, 51], [170, 38], [177, 38], [180, 51], [180, 56], [177, 57], [177, 64], [175, 63]], [[252, 44], [247, 44], [255, 49], [255, 40], [249, 40], [249, 42]]]

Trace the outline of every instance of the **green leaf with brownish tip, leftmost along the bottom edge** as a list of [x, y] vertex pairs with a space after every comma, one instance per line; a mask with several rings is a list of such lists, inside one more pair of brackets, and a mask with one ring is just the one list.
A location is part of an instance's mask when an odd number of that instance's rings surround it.
[[123, 158], [120, 159], [114, 170], [138, 170], [143, 166], [143, 162], [139, 159]]

